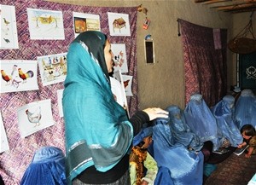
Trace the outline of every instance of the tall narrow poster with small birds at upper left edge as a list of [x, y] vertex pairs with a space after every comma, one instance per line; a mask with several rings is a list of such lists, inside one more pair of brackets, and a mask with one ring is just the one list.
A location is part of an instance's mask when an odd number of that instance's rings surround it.
[[15, 6], [0, 4], [0, 49], [19, 49]]

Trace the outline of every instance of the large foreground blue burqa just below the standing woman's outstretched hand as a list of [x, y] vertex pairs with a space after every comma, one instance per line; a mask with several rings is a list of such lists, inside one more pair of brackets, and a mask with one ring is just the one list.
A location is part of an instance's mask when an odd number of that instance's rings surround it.
[[153, 127], [154, 159], [160, 171], [154, 184], [197, 185], [203, 179], [203, 154], [189, 151], [172, 140], [169, 124]]

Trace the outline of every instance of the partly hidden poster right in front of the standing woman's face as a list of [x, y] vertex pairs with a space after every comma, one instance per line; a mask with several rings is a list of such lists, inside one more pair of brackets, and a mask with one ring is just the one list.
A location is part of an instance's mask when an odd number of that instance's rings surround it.
[[111, 50], [114, 62], [113, 71], [117, 72], [120, 69], [122, 72], [128, 72], [125, 43], [111, 43]]

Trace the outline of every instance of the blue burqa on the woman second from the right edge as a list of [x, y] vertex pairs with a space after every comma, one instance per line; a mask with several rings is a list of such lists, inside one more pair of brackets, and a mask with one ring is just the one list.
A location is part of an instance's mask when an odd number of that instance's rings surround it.
[[224, 139], [227, 139], [232, 147], [237, 147], [242, 142], [242, 136], [235, 124], [235, 97], [225, 95], [212, 107], [212, 113], [217, 119], [220, 132], [219, 142], [224, 142]]

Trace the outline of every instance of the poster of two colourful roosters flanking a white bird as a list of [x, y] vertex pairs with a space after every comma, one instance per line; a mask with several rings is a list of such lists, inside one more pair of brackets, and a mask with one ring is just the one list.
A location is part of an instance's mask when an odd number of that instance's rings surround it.
[[38, 90], [38, 62], [0, 60], [1, 93]]

